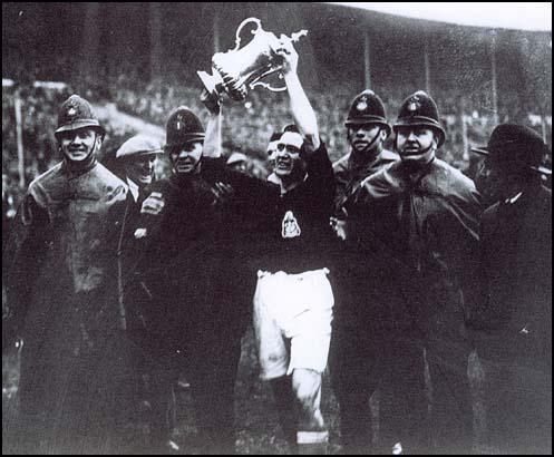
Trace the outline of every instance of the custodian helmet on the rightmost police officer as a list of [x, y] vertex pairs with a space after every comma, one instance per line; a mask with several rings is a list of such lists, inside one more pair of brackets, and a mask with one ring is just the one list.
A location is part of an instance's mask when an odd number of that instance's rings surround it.
[[446, 135], [438, 118], [437, 104], [422, 90], [418, 90], [404, 100], [392, 128], [397, 132], [398, 128], [408, 126], [430, 128], [438, 135], [438, 147], [445, 143]]

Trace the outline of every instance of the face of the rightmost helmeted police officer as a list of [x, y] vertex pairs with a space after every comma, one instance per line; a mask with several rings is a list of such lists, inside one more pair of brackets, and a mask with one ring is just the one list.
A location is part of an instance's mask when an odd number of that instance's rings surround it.
[[437, 150], [437, 137], [430, 128], [406, 126], [397, 129], [396, 145], [402, 162], [427, 164]]

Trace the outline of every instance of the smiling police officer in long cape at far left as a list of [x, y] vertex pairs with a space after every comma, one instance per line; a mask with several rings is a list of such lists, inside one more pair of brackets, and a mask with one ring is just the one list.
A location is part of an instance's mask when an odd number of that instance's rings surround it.
[[115, 293], [127, 188], [96, 161], [104, 134], [87, 100], [72, 95], [61, 105], [55, 135], [64, 159], [29, 185], [4, 256], [25, 341], [20, 445], [38, 454], [125, 450], [135, 405]]

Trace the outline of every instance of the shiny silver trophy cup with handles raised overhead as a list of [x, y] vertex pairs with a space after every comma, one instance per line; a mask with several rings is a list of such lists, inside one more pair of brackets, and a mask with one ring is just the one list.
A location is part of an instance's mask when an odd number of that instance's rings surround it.
[[[252, 30], [254, 38], [239, 49], [241, 30], [250, 22], [257, 25], [257, 28]], [[285, 38], [295, 42], [307, 33], [308, 30], [301, 30]], [[241, 101], [246, 98], [247, 91], [256, 86], [265, 87], [271, 91], [286, 90], [285, 87], [271, 87], [260, 81], [263, 77], [283, 68], [281, 58], [272, 51], [278, 43], [279, 39], [274, 33], [262, 29], [260, 19], [244, 19], [236, 29], [235, 48], [226, 52], [216, 52], [212, 57], [212, 75], [197, 71], [210, 97], [220, 97], [221, 94], [226, 93], [233, 100]]]

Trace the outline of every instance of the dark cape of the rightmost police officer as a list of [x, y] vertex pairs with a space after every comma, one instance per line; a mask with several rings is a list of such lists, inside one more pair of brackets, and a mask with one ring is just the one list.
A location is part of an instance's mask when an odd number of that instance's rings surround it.
[[419, 328], [465, 338], [467, 302], [476, 294], [480, 215], [473, 181], [438, 158], [417, 178], [397, 162], [362, 182], [346, 206], [363, 229], [356, 230], [362, 244], [377, 236], [411, 269]]

